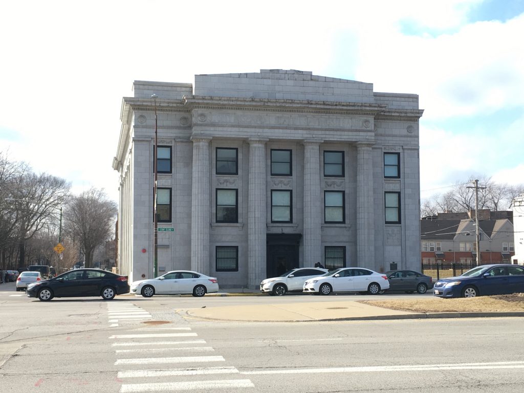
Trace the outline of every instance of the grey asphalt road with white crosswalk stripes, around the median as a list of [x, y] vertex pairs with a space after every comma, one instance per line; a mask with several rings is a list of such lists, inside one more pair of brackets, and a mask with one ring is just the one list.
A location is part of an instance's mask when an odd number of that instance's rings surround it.
[[[505, 393], [524, 387], [521, 318], [216, 322], [185, 310], [256, 307], [279, 298], [44, 303], [6, 289], [0, 286], [2, 392]], [[339, 298], [285, 301], [312, 299]]]

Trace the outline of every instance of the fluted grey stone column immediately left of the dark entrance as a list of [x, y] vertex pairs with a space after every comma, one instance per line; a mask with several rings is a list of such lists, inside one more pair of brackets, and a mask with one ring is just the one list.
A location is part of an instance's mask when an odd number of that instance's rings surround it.
[[248, 286], [266, 278], [266, 141], [249, 139]]

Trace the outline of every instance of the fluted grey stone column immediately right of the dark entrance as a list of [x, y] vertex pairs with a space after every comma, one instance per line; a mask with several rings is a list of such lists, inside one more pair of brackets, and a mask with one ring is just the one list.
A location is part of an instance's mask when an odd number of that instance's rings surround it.
[[321, 262], [323, 195], [320, 191], [320, 141], [304, 140], [304, 267]]

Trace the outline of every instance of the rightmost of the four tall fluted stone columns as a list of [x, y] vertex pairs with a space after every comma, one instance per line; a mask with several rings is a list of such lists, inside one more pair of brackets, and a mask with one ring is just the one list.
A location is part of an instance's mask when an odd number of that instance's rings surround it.
[[[357, 143], [357, 265], [375, 266], [373, 157], [370, 143]], [[383, 212], [384, 214], [384, 212]]]

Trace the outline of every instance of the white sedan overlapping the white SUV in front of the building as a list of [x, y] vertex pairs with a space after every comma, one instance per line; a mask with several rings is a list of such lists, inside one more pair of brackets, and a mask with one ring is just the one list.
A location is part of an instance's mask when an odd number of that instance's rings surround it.
[[331, 292], [360, 292], [378, 294], [389, 289], [388, 276], [362, 267], [332, 270], [304, 282], [303, 291], [327, 295]]

